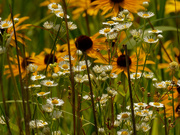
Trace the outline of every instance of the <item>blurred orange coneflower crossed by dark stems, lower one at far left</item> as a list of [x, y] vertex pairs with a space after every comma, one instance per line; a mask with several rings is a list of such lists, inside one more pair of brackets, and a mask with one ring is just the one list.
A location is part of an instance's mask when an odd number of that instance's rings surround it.
[[[27, 66], [30, 63], [33, 63], [31, 60], [34, 59], [34, 57], [35, 57], [35, 53], [32, 53], [31, 56], [29, 56], [29, 54], [26, 53], [24, 58], [19, 56], [22, 78], [24, 78], [26, 76], [26, 74], [29, 72], [27, 70]], [[10, 57], [10, 61], [14, 63], [14, 64], [11, 64], [11, 68], [12, 68], [14, 76], [19, 75], [17, 57], [16, 58]], [[7, 78], [9, 78], [11, 76], [9, 65], [5, 65], [4, 74], [7, 75]]]

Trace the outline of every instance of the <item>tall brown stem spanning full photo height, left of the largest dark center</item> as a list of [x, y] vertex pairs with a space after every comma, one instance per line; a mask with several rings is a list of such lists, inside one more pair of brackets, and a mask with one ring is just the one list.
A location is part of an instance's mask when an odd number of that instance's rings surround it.
[[72, 103], [73, 103], [73, 130], [74, 135], [76, 134], [76, 108], [75, 108], [75, 88], [74, 88], [74, 75], [72, 71], [72, 64], [71, 64], [71, 51], [70, 51], [70, 43], [69, 43], [69, 31], [68, 31], [68, 24], [67, 24], [67, 6], [65, 0], [62, 0], [63, 7], [64, 7], [64, 16], [65, 16], [65, 23], [66, 23], [66, 34], [67, 34], [67, 44], [68, 44], [68, 54], [69, 54], [69, 63], [70, 63], [70, 79], [71, 79], [71, 86], [72, 86]]

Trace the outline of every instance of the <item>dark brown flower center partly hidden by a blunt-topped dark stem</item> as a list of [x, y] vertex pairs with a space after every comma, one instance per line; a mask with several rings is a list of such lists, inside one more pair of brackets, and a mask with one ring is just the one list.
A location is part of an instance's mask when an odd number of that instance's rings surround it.
[[[132, 61], [131, 58], [128, 56], [129, 66], [131, 65]], [[117, 59], [117, 65], [120, 67], [126, 67], [126, 55], [122, 54]]]

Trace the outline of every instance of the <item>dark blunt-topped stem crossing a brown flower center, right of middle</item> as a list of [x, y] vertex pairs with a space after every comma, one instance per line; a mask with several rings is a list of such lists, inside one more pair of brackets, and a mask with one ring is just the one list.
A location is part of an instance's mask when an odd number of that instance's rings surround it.
[[126, 67], [128, 73], [128, 83], [129, 83], [129, 92], [130, 92], [130, 101], [131, 101], [131, 114], [132, 114], [132, 122], [133, 122], [133, 134], [136, 135], [136, 125], [135, 125], [135, 116], [134, 116], [134, 104], [133, 104], [133, 97], [132, 97], [132, 90], [131, 90], [131, 80], [130, 80], [130, 71], [129, 71], [129, 61], [128, 61], [128, 52], [127, 52], [127, 45], [124, 45], [125, 52], [126, 52]]

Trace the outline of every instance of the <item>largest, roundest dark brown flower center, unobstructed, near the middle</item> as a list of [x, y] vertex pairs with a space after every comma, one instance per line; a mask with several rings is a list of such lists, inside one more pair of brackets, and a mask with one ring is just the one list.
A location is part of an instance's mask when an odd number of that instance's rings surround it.
[[81, 35], [77, 38], [75, 45], [77, 49], [81, 51], [86, 51], [92, 47], [93, 42], [90, 37]]

